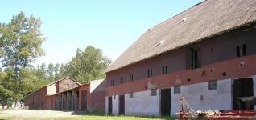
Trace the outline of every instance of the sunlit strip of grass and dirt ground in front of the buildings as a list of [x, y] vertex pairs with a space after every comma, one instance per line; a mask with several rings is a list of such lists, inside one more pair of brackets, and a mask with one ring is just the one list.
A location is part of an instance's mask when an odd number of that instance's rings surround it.
[[[7, 113], [12, 112], [13, 114], [7, 115]], [[16, 112], [17, 114], [14, 114]], [[23, 115], [22, 112], [26, 112]], [[29, 114], [31, 112], [31, 115]], [[43, 114], [49, 112], [50, 114]], [[68, 114], [64, 116], [54, 116], [52, 113], [56, 114]], [[72, 113], [72, 114], [70, 114]], [[34, 114], [34, 115], [32, 115]], [[41, 114], [35, 116], [35, 114]], [[42, 115], [43, 114], [43, 115]], [[104, 112], [71, 112], [71, 111], [47, 111], [47, 110], [2, 110], [0, 112], [0, 120], [175, 120], [171, 117], [134, 117], [134, 116], [105, 116]]]

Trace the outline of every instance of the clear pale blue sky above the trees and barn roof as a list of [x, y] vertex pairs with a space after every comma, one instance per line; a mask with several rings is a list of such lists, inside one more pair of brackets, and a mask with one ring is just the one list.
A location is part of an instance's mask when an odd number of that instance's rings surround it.
[[92, 45], [113, 61], [151, 26], [203, 0], [3, 0], [0, 22], [23, 11], [41, 18], [45, 55], [35, 64], [65, 63]]

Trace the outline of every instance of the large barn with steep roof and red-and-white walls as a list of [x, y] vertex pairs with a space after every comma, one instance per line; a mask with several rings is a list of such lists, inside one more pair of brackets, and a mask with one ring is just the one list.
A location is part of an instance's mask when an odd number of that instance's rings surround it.
[[[148, 29], [106, 70], [106, 114], [254, 110], [256, 1], [206, 0]], [[255, 107], [256, 108], [256, 107]]]

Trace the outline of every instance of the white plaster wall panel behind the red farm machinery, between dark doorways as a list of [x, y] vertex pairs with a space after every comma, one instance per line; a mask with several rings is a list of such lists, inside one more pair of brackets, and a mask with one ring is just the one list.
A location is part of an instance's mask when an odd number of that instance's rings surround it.
[[[217, 90], [208, 90], [208, 82], [180, 86], [180, 94], [171, 87], [171, 115], [180, 111], [180, 98], [184, 96], [193, 110], [231, 110], [231, 79], [219, 80]], [[200, 96], [203, 100], [200, 101]]]

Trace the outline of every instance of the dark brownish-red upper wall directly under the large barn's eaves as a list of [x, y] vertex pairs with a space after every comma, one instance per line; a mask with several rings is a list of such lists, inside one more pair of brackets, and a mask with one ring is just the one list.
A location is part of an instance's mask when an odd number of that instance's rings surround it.
[[117, 85], [120, 78], [124, 78], [124, 82], [129, 82], [130, 74], [134, 74], [134, 80], [147, 78], [147, 70], [150, 69], [153, 70], [153, 76], [161, 75], [162, 66], [166, 65], [168, 66], [168, 73], [185, 70], [186, 49], [192, 46], [200, 46], [201, 66], [237, 58], [236, 47], [241, 46], [240, 51], [242, 51], [242, 44], [246, 44], [247, 55], [256, 54], [255, 38], [256, 29], [254, 28], [250, 28], [247, 32], [244, 29], [234, 30], [227, 34], [221, 34], [190, 46], [171, 50], [122, 69], [111, 71], [107, 73], [106, 79], [108, 85], [110, 85], [110, 80], [114, 80], [114, 85]]

